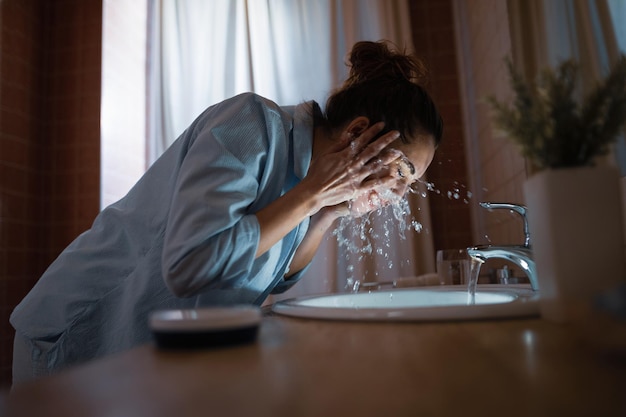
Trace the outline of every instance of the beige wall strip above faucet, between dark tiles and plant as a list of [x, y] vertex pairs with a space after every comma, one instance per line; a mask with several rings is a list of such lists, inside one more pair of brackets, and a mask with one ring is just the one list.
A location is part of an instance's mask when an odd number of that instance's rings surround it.
[[507, 3], [501, 0], [454, 0], [459, 68], [463, 74], [463, 111], [470, 183], [474, 192], [472, 219], [475, 243], [522, 243], [519, 216], [487, 212], [480, 201], [524, 203], [524, 159], [496, 131], [485, 97], [511, 96], [505, 57], [511, 54]]

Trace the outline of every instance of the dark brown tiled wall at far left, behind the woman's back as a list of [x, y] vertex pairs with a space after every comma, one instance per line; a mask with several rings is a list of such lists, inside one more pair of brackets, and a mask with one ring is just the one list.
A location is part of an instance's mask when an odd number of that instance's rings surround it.
[[8, 316], [98, 212], [101, 0], [0, 1], [0, 387]]

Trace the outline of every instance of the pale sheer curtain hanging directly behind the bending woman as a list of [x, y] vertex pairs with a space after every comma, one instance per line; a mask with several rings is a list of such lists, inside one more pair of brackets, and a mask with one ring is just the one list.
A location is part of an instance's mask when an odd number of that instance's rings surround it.
[[[345, 78], [346, 54], [358, 40], [388, 39], [413, 49], [406, 0], [153, 0], [150, 7], [151, 161], [206, 107], [241, 92], [281, 105], [312, 99], [323, 107]], [[417, 201], [414, 216], [429, 231], [428, 201]], [[385, 224], [377, 218], [373, 228], [384, 234]], [[329, 236], [309, 276], [288, 295], [342, 289], [347, 263], [358, 262], [361, 280], [434, 270], [428, 232], [375, 243], [383, 261], [355, 260]]]

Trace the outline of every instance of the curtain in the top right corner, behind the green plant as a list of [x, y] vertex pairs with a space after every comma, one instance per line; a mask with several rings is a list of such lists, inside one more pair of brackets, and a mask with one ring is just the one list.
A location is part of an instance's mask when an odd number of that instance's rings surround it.
[[[529, 78], [574, 58], [588, 90], [616, 61], [620, 44], [626, 52], [623, 0], [509, 0], [508, 8], [513, 60]], [[614, 150], [609, 163], [626, 175], [623, 137]]]

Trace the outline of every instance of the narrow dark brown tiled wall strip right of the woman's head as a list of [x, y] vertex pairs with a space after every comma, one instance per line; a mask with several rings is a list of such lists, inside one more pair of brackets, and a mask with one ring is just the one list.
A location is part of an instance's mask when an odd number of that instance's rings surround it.
[[[473, 244], [452, 0], [411, 0], [415, 51], [430, 72], [429, 91], [444, 119], [442, 144], [428, 168], [435, 250]], [[468, 198], [469, 197], [469, 198]]]

